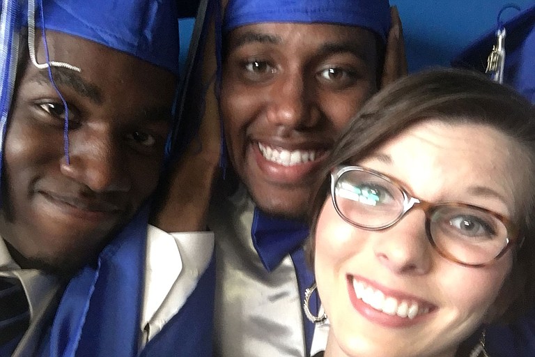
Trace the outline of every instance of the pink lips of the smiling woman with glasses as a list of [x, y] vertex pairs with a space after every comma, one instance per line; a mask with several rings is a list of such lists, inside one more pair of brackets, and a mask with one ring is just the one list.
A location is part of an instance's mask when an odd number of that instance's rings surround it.
[[[354, 278], [358, 281], [366, 282], [366, 284], [372, 287], [373, 289], [382, 291], [385, 296], [391, 296], [393, 298], [396, 298], [396, 300], [398, 301], [411, 301], [413, 303], [417, 303], [420, 308], [426, 309], [428, 310], [428, 312], [425, 312], [424, 314], [418, 314], [416, 317], [410, 319], [408, 317], [399, 317], [397, 315], [391, 315], [380, 310], [376, 310], [370, 305], [364, 303], [364, 301], [362, 301], [361, 299], [357, 298], [357, 295], [355, 294], [355, 289], [353, 288]], [[433, 312], [435, 312], [435, 310], [437, 309], [437, 307], [433, 305], [433, 303], [425, 301], [419, 298], [418, 296], [407, 294], [403, 291], [398, 291], [396, 289], [389, 289], [378, 284], [377, 282], [362, 278], [358, 275], [347, 275], [347, 282], [349, 298], [355, 310], [357, 310], [357, 312], [359, 312], [362, 317], [381, 326], [391, 328], [405, 328], [414, 326], [416, 324], [421, 323], [421, 321], [428, 319], [431, 314], [433, 314]]]

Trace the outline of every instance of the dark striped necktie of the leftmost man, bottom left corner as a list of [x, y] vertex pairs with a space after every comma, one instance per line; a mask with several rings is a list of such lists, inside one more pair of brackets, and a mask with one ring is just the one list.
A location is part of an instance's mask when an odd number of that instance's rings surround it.
[[16, 278], [0, 278], [0, 354], [8, 356], [30, 324], [29, 305]]

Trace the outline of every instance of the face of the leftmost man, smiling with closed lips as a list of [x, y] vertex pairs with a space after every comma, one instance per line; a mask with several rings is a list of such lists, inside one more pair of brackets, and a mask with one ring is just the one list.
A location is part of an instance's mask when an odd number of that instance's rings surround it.
[[[0, 234], [22, 268], [69, 274], [91, 261], [157, 185], [176, 77], [92, 41], [47, 31], [69, 107], [29, 59], [17, 79], [3, 151]], [[36, 49], [42, 63], [43, 48]], [[97, 60], [98, 59], [98, 60]], [[102, 66], [105, 63], [106, 66]]]

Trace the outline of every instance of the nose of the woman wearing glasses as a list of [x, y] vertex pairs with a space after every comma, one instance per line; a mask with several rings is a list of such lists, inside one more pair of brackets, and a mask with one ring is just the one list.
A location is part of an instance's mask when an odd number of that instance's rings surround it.
[[428, 241], [425, 213], [421, 210], [407, 213], [393, 227], [375, 234], [375, 257], [390, 271], [421, 275], [431, 269], [435, 252]]

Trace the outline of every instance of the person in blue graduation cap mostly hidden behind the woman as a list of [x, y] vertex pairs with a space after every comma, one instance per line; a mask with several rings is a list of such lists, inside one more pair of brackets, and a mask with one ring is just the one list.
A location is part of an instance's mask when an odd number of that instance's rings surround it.
[[[476, 40], [453, 59], [452, 65], [486, 71], [535, 105], [535, 6]], [[509, 326], [488, 326], [486, 350], [489, 356], [535, 356], [535, 311], [526, 312]]]

